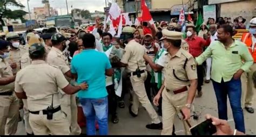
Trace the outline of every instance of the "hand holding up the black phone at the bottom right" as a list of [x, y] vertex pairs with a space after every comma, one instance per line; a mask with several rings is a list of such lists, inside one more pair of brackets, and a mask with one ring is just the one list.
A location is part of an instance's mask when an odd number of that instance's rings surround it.
[[210, 114], [206, 114], [205, 118], [212, 119], [212, 124], [217, 128], [216, 135], [233, 135], [234, 131], [228, 125], [227, 120], [212, 117]]

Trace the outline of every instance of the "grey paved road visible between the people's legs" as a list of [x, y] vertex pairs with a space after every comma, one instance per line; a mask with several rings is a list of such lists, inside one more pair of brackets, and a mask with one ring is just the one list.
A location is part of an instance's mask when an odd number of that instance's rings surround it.
[[[207, 113], [212, 114], [213, 116], [218, 117], [217, 111], [217, 102], [215, 99], [213, 86], [211, 83], [205, 84], [203, 86], [204, 95], [201, 98], [195, 98], [194, 100], [194, 109], [200, 114], [199, 120], [192, 120], [192, 125], [197, 124], [200, 121], [204, 120], [204, 115]], [[256, 94], [254, 95], [254, 108], [256, 108]], [[128, 99], [128, 95], [125, 100]], [[229, 102], [228, 102], [229, 104]], [[145, 128], [146, 124], [150, 124], [150, 117], [145, 111], [145, 109], [140, 106], [138, 117], [133, 118], [130, 116], [127, 106], [129, 102], [126, 102], [125, 109], [118, 109], [119, 123], [112, 124], [109, 122], [109, 134], [110, 135], [159, 135], [159, 130], [150, 130]], [[245, 115], [245, 128], [246, 133], [255, 135], [256, 134], [256, 113], [250, 114], [247, 111], [244, 111]], [[232, 117], [232, 111], [230, 105], [228, 105], [228, 122], [234, 128], [234, 121]], [[175, 122], [176, 133], [178, 135], [184, 134], [182, 122], [176, 118]], [[83, 132], [85, 130], [83, 129]], [[19, 122], [17, 135], [25, 135], [25, 129], [23, 122]]]

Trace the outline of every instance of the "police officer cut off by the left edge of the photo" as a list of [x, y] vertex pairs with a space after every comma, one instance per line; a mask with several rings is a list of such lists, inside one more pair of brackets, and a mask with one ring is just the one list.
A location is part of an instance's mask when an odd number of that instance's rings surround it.
[[6, 60], [10, 45], [0, 40], [0, 135], [14, 135], [19, 119], [19, 100], [14, 94], [15, 76]]

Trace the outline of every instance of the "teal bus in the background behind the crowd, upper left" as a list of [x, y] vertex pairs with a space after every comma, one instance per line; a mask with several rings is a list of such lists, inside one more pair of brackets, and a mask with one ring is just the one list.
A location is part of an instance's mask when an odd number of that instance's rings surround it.
[[75, 22], [68, 15], [49, 17], [46, 19], [46, 27], [71, 27], [74, 28]]

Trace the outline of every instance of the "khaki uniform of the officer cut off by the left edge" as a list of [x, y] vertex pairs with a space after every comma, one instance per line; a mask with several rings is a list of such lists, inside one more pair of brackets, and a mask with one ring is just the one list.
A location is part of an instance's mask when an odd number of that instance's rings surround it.
[[[13, 76], [8, 61], [0, 58], [1, 77]], [[14, 82], [0, 86], [0, 93], [13, 92]], [[0, 95], [0, 135], [14, 135], [19, 120], [19, 100], [15, 93], [11, 96]], [[5, 126], [6, 125], [6, 126]]]

